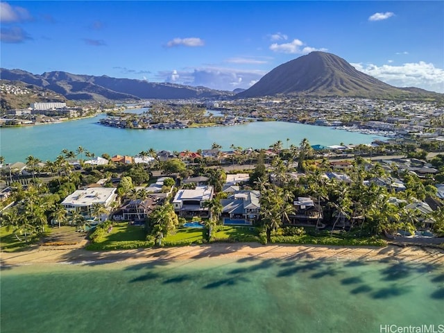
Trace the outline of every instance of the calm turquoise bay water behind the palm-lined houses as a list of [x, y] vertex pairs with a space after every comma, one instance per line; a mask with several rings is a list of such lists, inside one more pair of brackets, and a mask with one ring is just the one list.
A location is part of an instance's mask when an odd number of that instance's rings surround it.
[[334, 130], [323, 126], [309, 126], [282, 121], [254, 122], [239, 126], [211, 128], [186, 128], [182, 130], [130, 130], [111, 128], [98, 123], [101, 115], [89, 119], [67, 121], [20, 128], [0, 128], [0, 155], [6, 163], [25, 161], [28, 155], [40, 160], [54, 160], [62, 149], [76, 151], [83, 146], [88, 151], [101, 155], [135, 155], [149, 148], [155, 150], [183, 151], [209, 149], [213, 142], [223, 150], [230, 146], [243, 148], [268, 148], [281, 140], [299, 145], [303, 138], [311, 144], [368, 144], [373, 135]]

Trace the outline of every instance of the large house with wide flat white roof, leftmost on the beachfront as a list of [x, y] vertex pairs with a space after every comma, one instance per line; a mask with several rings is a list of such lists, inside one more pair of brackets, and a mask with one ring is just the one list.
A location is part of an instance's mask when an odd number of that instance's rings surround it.
[[[117, 194], [114, 187], [89, 187], [87, 189], [78, 189], [70, 194], [62, 201], [62, 206], [67, 212], [80, 212], [85, 216], [92, 216], [94, 213], [94, 205], [99, 204], [103, 207], [110, 207], [111, 203], [116, 199]], [[108, 216], [101, 216], [103, 221]]]

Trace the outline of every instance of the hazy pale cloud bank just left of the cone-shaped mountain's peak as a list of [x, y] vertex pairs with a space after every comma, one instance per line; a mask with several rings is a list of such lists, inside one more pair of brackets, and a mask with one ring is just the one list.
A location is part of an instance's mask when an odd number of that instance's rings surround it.
[[[229, 90], [236, 88], [247, 89], [256, 83], [266, 71], [239, 70], [224, 67], [203, 67], [187, 69], [184, 71], [161, 71], [157, 73], [156, 79], [169, 83], [182, 85], [203, 86], [212, 89]], [[175, 80], [173, 80], [175, 76]]]

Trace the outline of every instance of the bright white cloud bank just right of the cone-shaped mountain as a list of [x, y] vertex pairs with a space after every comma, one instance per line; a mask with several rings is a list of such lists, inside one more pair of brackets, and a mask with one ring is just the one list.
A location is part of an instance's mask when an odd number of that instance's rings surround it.
[[424, 61], [402, 66], [352, 64], [358, 71], [373, 76], [395, 87], [418, 87], [444, 93], [444, 69]]

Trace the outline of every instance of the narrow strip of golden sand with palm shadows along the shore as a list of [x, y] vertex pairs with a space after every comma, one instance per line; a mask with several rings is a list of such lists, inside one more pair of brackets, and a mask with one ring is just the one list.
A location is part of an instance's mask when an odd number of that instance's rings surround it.
[[89, 251], [75, 246], [34, 246], [17, 253], [1, 253], [2, 265], [56, 264], [82, 262], [149, 262], [153, 260], [185, 260], [211, 257], [260, 257], [282, 259], [402, 260], [444, 264], [444, 250], [418, 246], [343, 247], [289, 246], [261, 244], [210, 244], [177, 248]]

